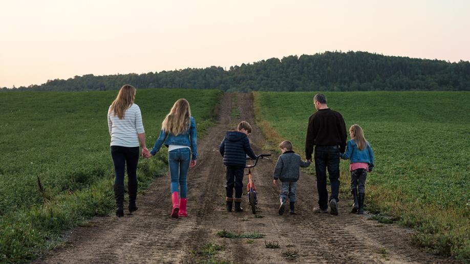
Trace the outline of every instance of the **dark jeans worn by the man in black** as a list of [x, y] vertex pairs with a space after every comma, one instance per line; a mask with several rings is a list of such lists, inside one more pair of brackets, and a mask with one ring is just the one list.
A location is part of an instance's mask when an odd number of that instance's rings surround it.
[[[328, 200], [326, 188], [326, 171], [331, 183], [331, 196]], [[337, 146], [315, 146], [316, 188], [318, 189], [318, 205], [321, 209], [328, 208], [328, 201], [339, 201], [339, 148]]]

